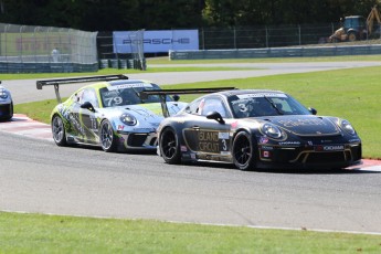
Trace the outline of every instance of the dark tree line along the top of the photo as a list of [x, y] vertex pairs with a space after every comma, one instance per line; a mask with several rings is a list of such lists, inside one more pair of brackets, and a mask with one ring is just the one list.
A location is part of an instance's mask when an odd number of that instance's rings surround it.
[[0, 22], [84, 31], [314, 24], [351, 14], [367, 18], [379, 1], [0, 0]]

